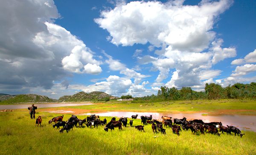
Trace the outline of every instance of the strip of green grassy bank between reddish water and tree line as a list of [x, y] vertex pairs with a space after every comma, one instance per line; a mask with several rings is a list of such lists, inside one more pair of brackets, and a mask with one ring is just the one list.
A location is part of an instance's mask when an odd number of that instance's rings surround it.
[[[108, 101], [86, 106], [69, 106], [61, 109], [86, 112], [128, 111], [128, 112], [168, 112], [168, 113], [212, 113], [256, 115], [256, 100], [186, 100], [165, 102]], [[52, 108], [55, 109], [55, 108]]]

